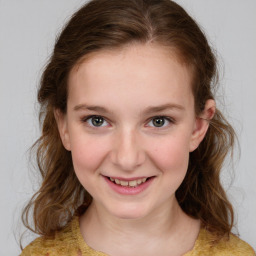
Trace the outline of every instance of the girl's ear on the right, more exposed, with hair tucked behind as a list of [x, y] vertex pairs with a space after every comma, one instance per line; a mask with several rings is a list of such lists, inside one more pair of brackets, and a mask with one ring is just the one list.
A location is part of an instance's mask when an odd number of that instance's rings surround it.
[[215, 110], [215, 101], [212, 99], [207, 100], [203, 112], [195, 120], [195, 127], [190, 141], [190, 152], [194, 151], [204, 139]]

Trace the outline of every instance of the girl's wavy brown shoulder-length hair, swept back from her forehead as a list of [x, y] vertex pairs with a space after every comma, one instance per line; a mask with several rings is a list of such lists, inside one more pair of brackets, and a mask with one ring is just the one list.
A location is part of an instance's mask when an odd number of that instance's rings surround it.
[[[42, 184], [22, 215], [24, 225], [33, 232], [53, 235], [92, 200], [75, 175], [71, 153], [62, 145], [54, 116], [57, 109], [66, 113], [70, 71], [90, 53], [133, 43], [167, 46], [191, 68], [196, 115], [208, 99], [214, 99], [218, 80], [215, 55], [198, 24], [178, 4], [170, 0], [93, 0], [82, 6], [56, 40], [38, 91], [42, 135], [34, 147]], [[204, 140], [190, 153], [187, 174], [176, 191], [183, 211], [200, 219], [216, 234], [216, 241], [228, 237], [233, 226], [233, 209], [221, 185], [220, 171], [234, 138], [233, 128], [217, 109]]]

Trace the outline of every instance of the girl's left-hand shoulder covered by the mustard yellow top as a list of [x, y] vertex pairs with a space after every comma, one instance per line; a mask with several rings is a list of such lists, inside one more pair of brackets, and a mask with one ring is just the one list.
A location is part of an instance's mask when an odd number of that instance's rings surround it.
[[79, 246], [72, 231], [74, 219], [67, 227], [55, 233], [52, 238], [39, 237], [30, 243], [20, 256], [77, 256]]

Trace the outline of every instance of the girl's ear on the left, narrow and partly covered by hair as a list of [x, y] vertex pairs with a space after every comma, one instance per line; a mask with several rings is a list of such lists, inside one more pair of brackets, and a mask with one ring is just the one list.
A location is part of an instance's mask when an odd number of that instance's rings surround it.
[[54, 116], [58, 126], [62, 144], [66, 150], [70, 151], [70, 138], [67, 125], [67, 116], [59, 109], [54, 110]]

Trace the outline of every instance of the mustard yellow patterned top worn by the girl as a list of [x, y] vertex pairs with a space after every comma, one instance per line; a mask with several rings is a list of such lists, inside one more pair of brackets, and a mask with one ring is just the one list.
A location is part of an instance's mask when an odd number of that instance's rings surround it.
[[[222, 240], [212, 247], [213, 237], [205, 229], [201, 229], [192, 251], [184, 256], [255, 256], [252, 247], [235, 235], [228, 241]], [[79, 227], [79, 219], [72, 222], [60, 232], [56, 232], [53, 239], [42, 237], [34, 240], [21, 253], [21, 256], [107, 256], [95, 251], [84, 241]]]

